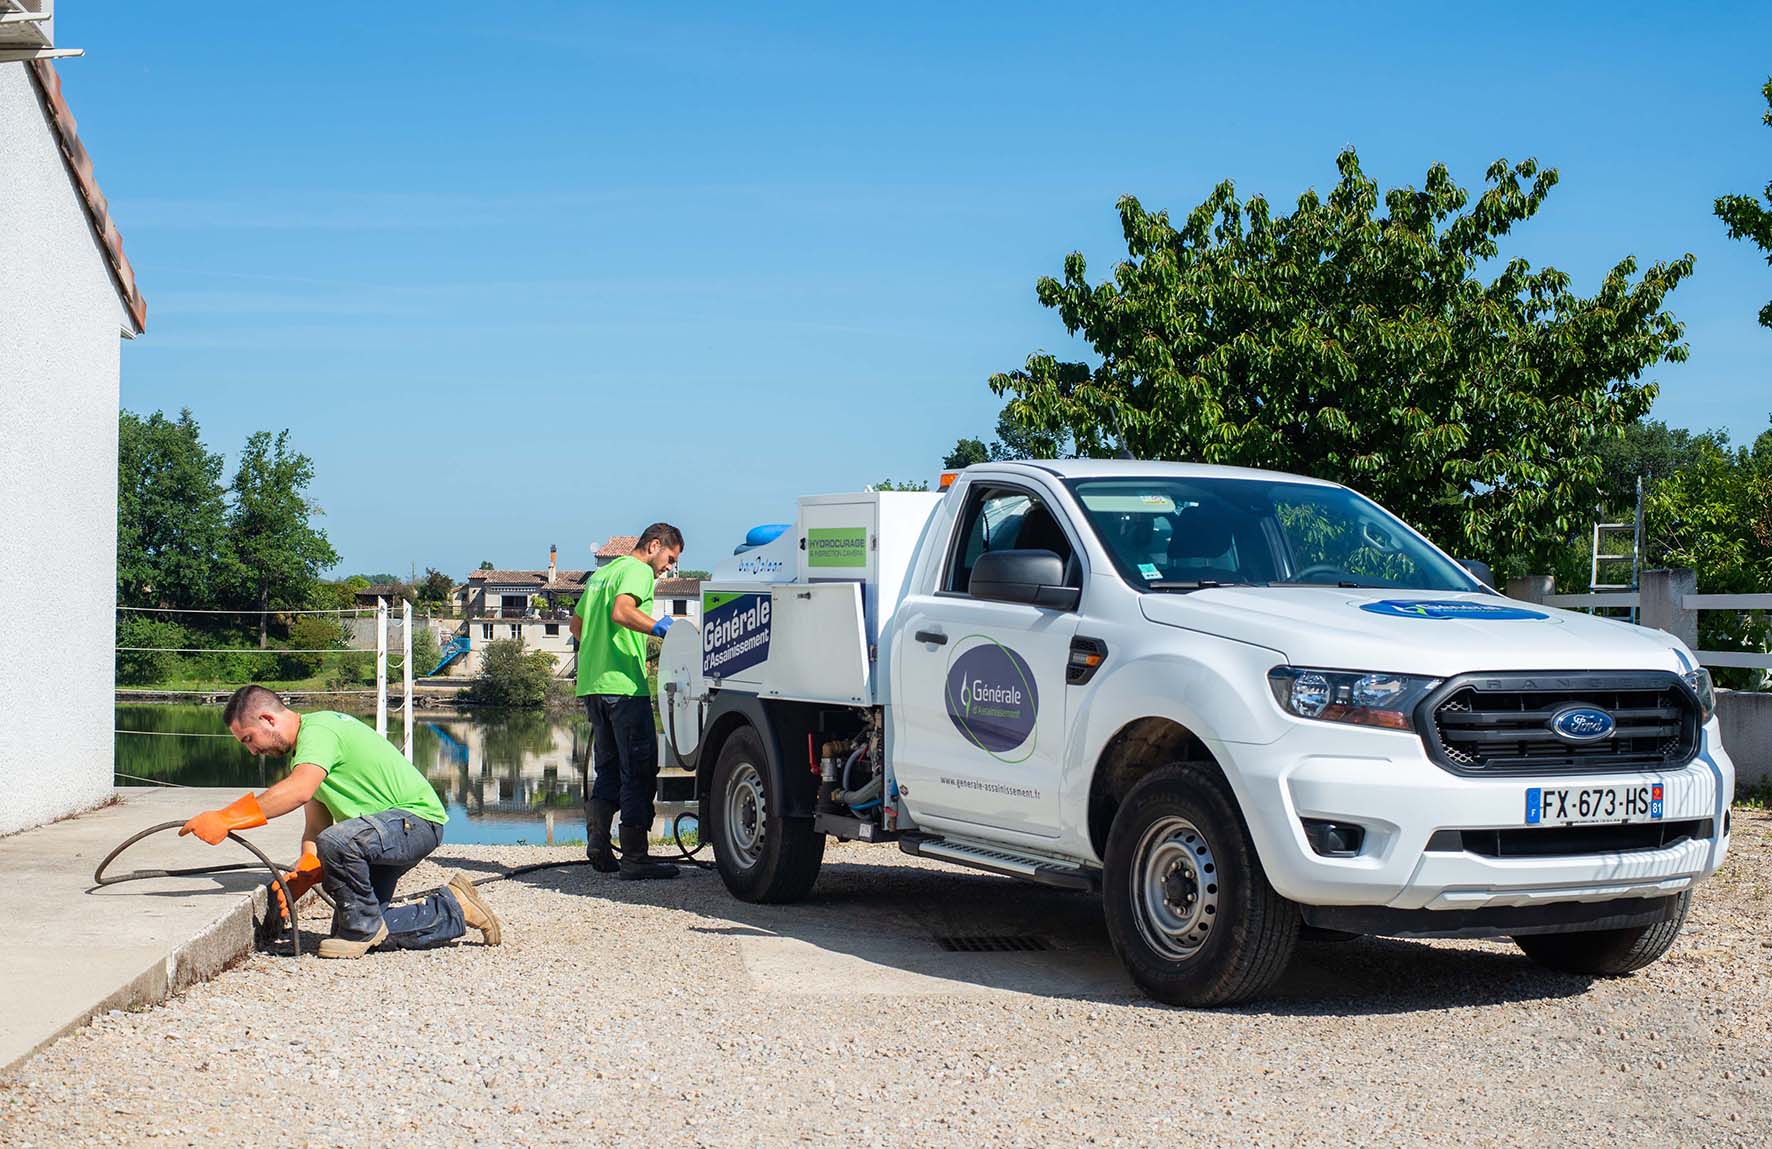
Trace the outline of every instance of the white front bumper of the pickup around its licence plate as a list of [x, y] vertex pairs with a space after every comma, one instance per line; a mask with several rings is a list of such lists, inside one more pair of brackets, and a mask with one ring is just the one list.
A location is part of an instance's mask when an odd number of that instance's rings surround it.
[[[1435, 766], [1414, 732], [1292, 723], [1267, 745], [1212, 743], [1249, 823], [1267, 879], [1304, 906], [1473, 911], [1664, 899], [1708, 878], [1728, 853], [1735, 766], [1712, 720], [1678, 770], [1471, 778]], [[1519, 830], [1526, 787], [1660, 782], [1662, 821], [1710, 819], [1710, 837], [1653, 849], [1488, 856], [1441, 830]], [[1322, 856], [1302, 819], [1357, 823], [1361, 851]], [[1552, 913], [1554, 917], [1554, 913]], [[1414, 931], [1428, 933], [1428, 931]]]

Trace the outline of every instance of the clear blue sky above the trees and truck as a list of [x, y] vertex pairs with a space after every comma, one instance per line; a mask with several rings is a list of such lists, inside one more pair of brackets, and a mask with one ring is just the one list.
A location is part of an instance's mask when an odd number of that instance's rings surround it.
[[[1434, 9], [1428, 12], [1428, 9]], [[801, 493], [932, 477], [1115, 199], [1561, 170], [1503, 250], [1698, 255], [1655, 415], [1772, 413], [1772, 5], [260, 5], [67, 0], [64, 89], [149, 301], [124, 406], [289, 427], [342, 571], [712, 566]]]

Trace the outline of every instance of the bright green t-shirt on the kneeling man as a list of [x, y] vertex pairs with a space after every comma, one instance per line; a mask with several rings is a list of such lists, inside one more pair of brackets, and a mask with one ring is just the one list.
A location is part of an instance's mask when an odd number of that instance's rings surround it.
[[301, 715], [296, 750], [289, 761], [292, 766], [314, 762], [326, 771], [326, 780], [314, 796], [331, 810], [333, 821], [383, 810], [409, 810], [439, 826], [448, 821], [443, 803], [418, 768], [393, 743], [351, 715]]

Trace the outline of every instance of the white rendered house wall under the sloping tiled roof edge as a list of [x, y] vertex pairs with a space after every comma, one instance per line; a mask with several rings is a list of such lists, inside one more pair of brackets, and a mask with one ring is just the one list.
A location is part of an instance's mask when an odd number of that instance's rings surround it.
[[112, 793], [129, 323], [25, 64], [0, 64], [0, 833]]

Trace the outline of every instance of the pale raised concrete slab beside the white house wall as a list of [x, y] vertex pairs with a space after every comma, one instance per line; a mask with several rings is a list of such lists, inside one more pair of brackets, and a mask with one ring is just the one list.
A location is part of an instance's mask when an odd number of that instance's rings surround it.
[[[94, 887], [119, 842], [156, 823], [223, 807], [234, 789], [119, 789], [119, 805], [0, 839], [0, 1073], [106, 1009], [159, 1002], [252, 950], [264, 872]], [[301, 849], [301, 817], [243, 837], [275, 862]], [[174, 832], [117, 858], [113, 872], [255, 862]]]

